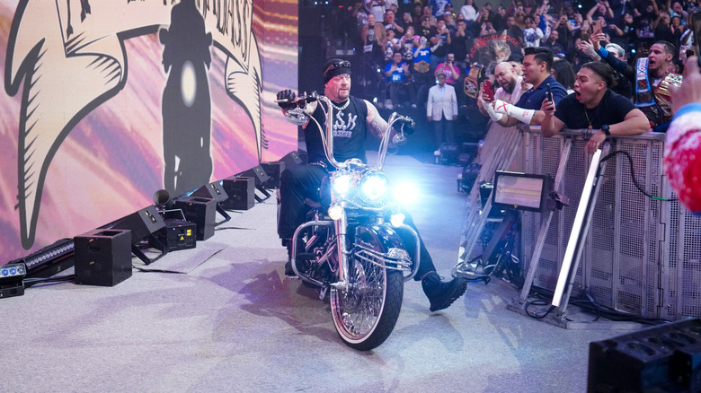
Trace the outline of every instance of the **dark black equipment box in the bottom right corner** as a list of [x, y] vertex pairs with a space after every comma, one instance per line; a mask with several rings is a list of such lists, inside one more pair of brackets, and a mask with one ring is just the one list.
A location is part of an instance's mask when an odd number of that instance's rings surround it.
[[701, 319], [648, 327], [589, 346], [588, 392], [698, 391]]

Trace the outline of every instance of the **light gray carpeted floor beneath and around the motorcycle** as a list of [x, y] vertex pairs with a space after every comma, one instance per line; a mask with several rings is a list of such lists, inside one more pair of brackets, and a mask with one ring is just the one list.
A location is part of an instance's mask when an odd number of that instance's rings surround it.
[[[413, 212], [449, 275], [465, 195], [459, 167], [390, 157], [393, 181], [417, 179]], [[173, 252], [114, 287], [34, 286], [0, 300], [0, 391], [466, 391], [586, 389], [589, 343], [622, 332], [565, 330], [506, 310], [509, 283], [468, 284], [431, 313], [405, 285], [392, 336], [368, 353], [343, 345], [327, 301], [284, 279], [274, 197], [234, 214], [184, 258]], [[135, 259], [136, 261], [136, 259]]]

